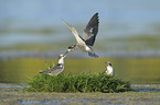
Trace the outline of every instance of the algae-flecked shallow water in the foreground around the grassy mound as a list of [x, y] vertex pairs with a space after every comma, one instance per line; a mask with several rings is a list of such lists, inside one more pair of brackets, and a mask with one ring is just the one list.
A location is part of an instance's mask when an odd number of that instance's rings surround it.
[[[151, 104], [160, 103], [160, 84], [132, 84], [134, 91], [122, 93], [29, 93], [19, 84], [0, 83], [0, 104]], [[143, 91], [142, 91], [143, 90]]]

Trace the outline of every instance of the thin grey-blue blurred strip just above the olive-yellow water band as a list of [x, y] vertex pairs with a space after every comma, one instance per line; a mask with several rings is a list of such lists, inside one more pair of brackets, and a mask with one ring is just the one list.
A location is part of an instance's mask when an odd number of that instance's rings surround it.
[[[63, 54], [65, 50], [62, 51], [54, 51], [54, 50], [43, 50], [43, 51], [32, 51], [32, 50], [12, 50], [12, 51], [0, 51], [0, 61], [9, 60], [9, 59], [18, 59], [18, 58], [42, 58], [42, 59], [53, 59], [57, 58], [58, 54]], [[126, 50], [114, 50], [114, 51], [97, 51], [100, 58], [105, 57], [117, 57], [117, 58], [151, 58], [151, 57], [160, 57], [160, 50], [141, 50], [141, 51], [126, 51]], [[68, 58], [90, 58], [83, 51], [75, 51], [68, 55]]]

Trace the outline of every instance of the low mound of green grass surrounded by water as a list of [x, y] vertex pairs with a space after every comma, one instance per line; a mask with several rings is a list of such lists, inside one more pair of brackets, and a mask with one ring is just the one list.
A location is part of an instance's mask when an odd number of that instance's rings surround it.
[[28, 83], [29, 92], [126, 92], [130, 83], [100, 73], [79, 73], [58, 75], [38, 74]]

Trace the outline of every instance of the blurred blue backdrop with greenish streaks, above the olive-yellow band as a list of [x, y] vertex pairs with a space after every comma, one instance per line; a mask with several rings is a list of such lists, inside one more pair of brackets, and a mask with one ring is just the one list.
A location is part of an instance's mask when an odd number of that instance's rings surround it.
[[159, 0], [1, 0], [0, 60], [64, 52], [75, 39], [61, 18], [82, 35], [96, 12], [100, 24], [94, 49], [100, 57], [159, 57]]

